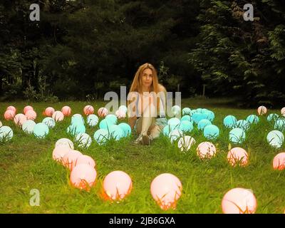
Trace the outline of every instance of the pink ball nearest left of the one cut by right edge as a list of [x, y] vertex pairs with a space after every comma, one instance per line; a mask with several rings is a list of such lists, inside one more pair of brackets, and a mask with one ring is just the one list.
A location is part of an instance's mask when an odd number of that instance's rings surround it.
[[245, 166], [248, 163], [247, 151], [241, 147], [234, 147], [227, 154], [227, 161], [232, 166]]

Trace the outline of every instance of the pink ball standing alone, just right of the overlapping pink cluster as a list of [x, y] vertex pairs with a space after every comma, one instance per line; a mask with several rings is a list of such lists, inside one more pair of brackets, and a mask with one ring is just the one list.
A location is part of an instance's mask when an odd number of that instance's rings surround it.
[[132, 187], [132, 179], [123, 171], [110, 172], [103, 181], [103, 189], [106, 199], [123, 199], [130, 194]]

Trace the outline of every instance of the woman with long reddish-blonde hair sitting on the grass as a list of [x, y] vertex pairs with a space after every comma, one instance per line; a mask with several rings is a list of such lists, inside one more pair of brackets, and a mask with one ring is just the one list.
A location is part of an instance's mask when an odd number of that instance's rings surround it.
[[167, 125], [166, 95], [155, 68], [150, 63], [140, 66], [128, 94], [128, 122], [139, 134], [135, 144], [150, 145]]

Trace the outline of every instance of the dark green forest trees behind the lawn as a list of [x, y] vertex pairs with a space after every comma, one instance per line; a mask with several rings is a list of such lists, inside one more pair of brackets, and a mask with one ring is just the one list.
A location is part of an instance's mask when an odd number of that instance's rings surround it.
[[2, 101], [100, 99], [146, 62], [182, 98], [284, 105], [285, 1], [0, 0]]

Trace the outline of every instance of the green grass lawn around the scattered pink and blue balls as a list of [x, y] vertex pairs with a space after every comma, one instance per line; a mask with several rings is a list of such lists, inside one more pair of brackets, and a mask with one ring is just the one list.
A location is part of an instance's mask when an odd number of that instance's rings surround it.
[[[36, 123], [43, 120], [43, 110], [52, 106], [61, 110], [63, 105], [72, 108], [72, 114], [83, 114], [88, 103], [31, 103], [38, 113]], [[103, 106], [103, 101], [91, 103], [95, 110]], [[166, 213], [222, 213], [221, 202], [224, 194], [234, 187], [251, 189], [257, 197], [256, 213], [283, 213], [285, 209], [285, 170], [273, 170], [274, 156], [285, 151], [285, 145], [276, 150], [266, 142], [266, 135], [274, 130], [273, 125], [261, 117], [258, 125], [247, 132], [242, 145], [249, 153], [247, 167], [231, 167], [227, 162], [229, 148], [229, 130], [222, 121], [226, 115], [235, 115], [245, 119], [256, 110], [234, 108], [229, 100], [182, 100], [182, 108], [208, 108], [216, 117], [213, 121], [220, 129], [217, 140], [217, 156], [209, 161], [199, 160], [196, 147], [205, 141], [202, 132], [190, 133], [197, 141], [189, 152], [180, 152], [164, 136], [155, 140], [151, 146], [133, 145], [133, 136], [119, 141], [110, 140], [99, 146], [93, 139], [98, 129], [86, 127], [93, 142], [88, 149], [78, 149], [90, 155], [96, 162], [98, 173], [95, 187], [90, 192], [77, 190], [69, 185], [69, 174], [62, 165], [52, 159], [55, 143], [60, 138], [68, 138], [66, 128], [71, 118], [65, 118], [50, 129], [45, 139], [27, 135], [13, 122], [4, 120], [4, 111], [8, 105], [14, 105], [17, 113], [22, 113], [28, 103], [0, 103], [0, 120], [14, 130], [11, 141], [0, 144], [0, 212], [1, 213], [165, 213], [157, 206], [150, 194], [150, 183], [164, 172], [176, 175], [182, 182], [182, 196], [177, 209]], [[269, 110], [278, 113], [280, 110]], [[127, 122], [127, 120], [123, 120]], [[71, 139], [72, 140], [72, 139]], [[285, 143], [284, 143], [285, 144]], [[103, 178], [109, 172], [122, 170], [133, 180], [133, 190], [122, 202], [105, 202], [100, 198]], [[40, 206], [30, 205], [30, 191], [40, 192]]]

